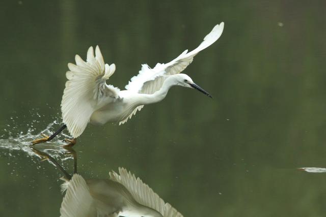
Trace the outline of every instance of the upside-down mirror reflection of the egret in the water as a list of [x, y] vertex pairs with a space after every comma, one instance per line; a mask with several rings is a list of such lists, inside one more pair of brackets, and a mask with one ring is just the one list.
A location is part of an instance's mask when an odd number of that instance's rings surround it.
[[108, 179], [84, 179], [77, 174], [76, 152], [66, 148], [74, 159], [74, 174], [70, 175], [48, 153], [33, 147], [33, 151], [42, 158], [55, 164], [64, 174], [61, 185], [66, 192], [60, 216], [130, 216], [130, 217], [182, 217], [169, 203], [165, 203], [140, 178], [136, 178], [124, 168], [119, 173], [110, 172]]

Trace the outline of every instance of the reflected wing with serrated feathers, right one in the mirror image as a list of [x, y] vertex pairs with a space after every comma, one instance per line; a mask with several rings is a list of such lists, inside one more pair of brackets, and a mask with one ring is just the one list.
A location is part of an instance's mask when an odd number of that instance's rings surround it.
[[183, 217], [169, 203], [165, 203], [147, 184], [136, 178], [124, 168], [119, 168], [119, 174], [110, 172], [110, 178], [124, 185], [132, 197], [145, 206], [160, 212], [164, 217]]

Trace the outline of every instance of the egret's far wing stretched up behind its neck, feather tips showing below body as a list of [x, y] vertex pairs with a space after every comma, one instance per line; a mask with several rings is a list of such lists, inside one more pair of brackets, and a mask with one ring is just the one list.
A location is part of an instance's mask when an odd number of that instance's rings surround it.
[[[220, 38], [223, 32], [223, 28], [224, 22], [215, 25], [211, 32], [204, 38], [204, 41], [195, 50], [191, 52], [188, 52], [188, 50], [183, 51], [170, 63], [158, 63], [153, 69], [151, 69], [146, 64], [142, 65], [142, 69], [139, 71], [139, 74], [132, 77], [125, 88], [140, 94], [154, 94], [154, 92], [162, 87], [163, 82], [166, 79], [166, 77], [162, 75], [175, 75], [182, 72], [189, 64], [192, 63], [194, 56], [196, 56], [197, 53], [209, 47]], [[132, 115], [137, 112], [137, 110], [140, 111], [143, 107], [144, 105], [135, 108], [135, 110], [129, 115], [128, 118], [131, 118]], [[128, 118], [122, 120], [120, 124], [125, 123]]]

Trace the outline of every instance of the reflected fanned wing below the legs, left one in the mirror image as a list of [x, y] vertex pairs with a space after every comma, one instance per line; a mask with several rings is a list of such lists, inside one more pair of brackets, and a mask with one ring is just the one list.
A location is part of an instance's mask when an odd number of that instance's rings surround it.
[[94, 200], [82, 176], [74, 174], [64, 185], [67, 191], [61, 203], [60, 217], [87, 217], [96, 213]]

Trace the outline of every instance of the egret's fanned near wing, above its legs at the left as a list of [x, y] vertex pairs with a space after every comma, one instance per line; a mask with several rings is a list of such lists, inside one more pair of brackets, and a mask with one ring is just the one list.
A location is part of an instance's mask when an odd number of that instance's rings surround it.
[[105, 100], [118, 98], [119, 89], [107, 85], [105, 81], [113, 75], [116, 66], [104, 64], [103, 56], [98, 46], [87, 51], [85, 62], [79, 55], [75, 56], [76, 65], [69, 63], [70, 71], [66, 73], [68, 81], [61, 102], [63, 122], [74, 138], [82, 134], [92, 113]]

